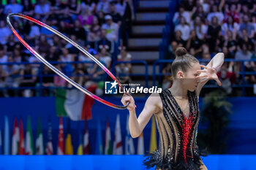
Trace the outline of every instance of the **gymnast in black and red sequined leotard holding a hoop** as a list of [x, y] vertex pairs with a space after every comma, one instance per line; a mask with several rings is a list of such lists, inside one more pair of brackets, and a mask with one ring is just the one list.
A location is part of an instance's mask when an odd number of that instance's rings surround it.
[[217, 53], [207, 66], [203, 66], [187, 54], [184, 47], [178, 47], [171, 67], [172, 87], [161, 93], [151, 93], [138, 118], [134, 98], [127, 93], [121, 98], [122, 104], [129, 102], [129, 131], [133, 138], [140, 136], [153, 114], [156, 117], [160, 146], [143, 161], [148, 169], [154, 166], [157, 170], [207, 169], [196, 141], [200, 117], [198, 97], [208, 80], [222, 85], [217, 70], [223, 62], [224, 54]]

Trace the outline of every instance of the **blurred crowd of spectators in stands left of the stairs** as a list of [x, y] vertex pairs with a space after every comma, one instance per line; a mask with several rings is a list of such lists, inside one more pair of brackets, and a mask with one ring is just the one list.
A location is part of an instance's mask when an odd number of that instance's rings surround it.
[[[111, 69], [113, 61], [131, 60], [126, 47], [134, 18], [132, 8], [132, 0], [10, 0], [7, 4], [1, 4], [0, 63], [16, 64], [0, 65], [0, 96], [37, 96], [37, 90], [15, 88], [39, 85], [45, 88], [43, 95], [48, 96], [51, 93], [48, 87], [69, 86], [61, 77], [53, 76], [48, 67], [37, 64], [37, 58], [21, 45], [7, 26], [9, 13], [23, 13], [46, 23]], [[88, 56], [46, 28], [17, 17], [12, 18], [11, 23], [18, 34], [47, 61], [91, 61]], [[95, 63], [59, 63], [53, 66], [84, 87], [88, 80], [97, 82], [106, 79], [104, 70]], [[129, 64], [116, 66], [121, 82], [129, 81], [129, 72]], [[84, 74], [87, 75], [79, 76]]]

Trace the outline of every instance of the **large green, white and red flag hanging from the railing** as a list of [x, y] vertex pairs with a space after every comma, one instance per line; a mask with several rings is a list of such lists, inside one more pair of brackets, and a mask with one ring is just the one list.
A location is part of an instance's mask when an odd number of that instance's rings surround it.
[[[97, 85], [91, 85], [87, 90], [94, 92]], [[77, 89], [57, 90], [56, 93], [56, 112], [58, 116], [69, 116], [71, 120], [90, 120], [91, 107], [94, 98], [86, 96]]]

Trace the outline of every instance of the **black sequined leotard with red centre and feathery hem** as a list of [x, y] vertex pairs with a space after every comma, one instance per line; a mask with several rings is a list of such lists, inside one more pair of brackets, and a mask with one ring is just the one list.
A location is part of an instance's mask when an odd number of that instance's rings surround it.
[[170, 90], [162, 90], [162, 113], [156, 114], [160, 147], [148, 154], [144, 161], [147, 168], [198, 170], [203, 163], [197, 147], [199, 107], [196, 91], [188, 90], [189, 117], [185, 117]]

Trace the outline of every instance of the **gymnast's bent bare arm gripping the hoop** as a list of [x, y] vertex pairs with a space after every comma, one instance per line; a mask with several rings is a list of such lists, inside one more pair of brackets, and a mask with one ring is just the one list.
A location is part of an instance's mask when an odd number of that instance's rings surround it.
[[132, 138], [136, 138], [140, 136], [143, 128], [145, 128], [153, 113], [159, 112], [158, 104], [161, 100], [158, 94], [152, 93], [151, 96], [148, 97], [145, 107], [143, 108], [143, 111], [140, 113], [138, 118], [135, 112], [134, 99], [132, 96], [124, 94], [121, 102], [122, 104], [126, 105], [127, 101], [129, 101], [129, 106], [127, 107], [129, 110], [129, 131]]

